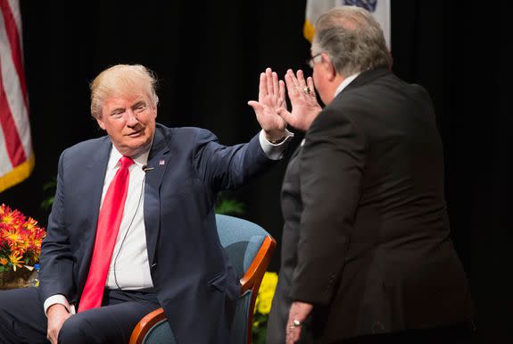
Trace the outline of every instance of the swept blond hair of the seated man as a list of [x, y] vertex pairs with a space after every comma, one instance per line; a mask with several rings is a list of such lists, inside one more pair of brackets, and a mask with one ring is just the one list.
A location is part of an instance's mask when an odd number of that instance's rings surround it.
[[159, 103], [153, 71], [141, 64], [117, 64], [102, 71], [91, 82], [91, 114], [102, 118], [103, 101], [109, 96], [128, 96], [144, 92], [153, 102]]

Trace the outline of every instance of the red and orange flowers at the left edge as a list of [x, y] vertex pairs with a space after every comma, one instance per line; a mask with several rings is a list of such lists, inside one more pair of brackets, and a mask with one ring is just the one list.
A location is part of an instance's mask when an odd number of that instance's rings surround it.
[[45, 236], [45, 229], [33, 218], [4, 204], [0, 206], [0, 273], [16, 272], [23, 266], [32, 270]]

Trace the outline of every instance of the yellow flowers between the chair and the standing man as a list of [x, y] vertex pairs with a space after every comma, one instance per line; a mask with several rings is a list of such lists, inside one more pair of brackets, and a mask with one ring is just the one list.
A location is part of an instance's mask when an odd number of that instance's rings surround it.
[[266, 272], [261, 281], [261, 286], [255, 302], [252, 325], [253, 344], [264, 344], [267, 332], [267, 321], [269, 317], [272, 298], [277, 286], [277, 273]]

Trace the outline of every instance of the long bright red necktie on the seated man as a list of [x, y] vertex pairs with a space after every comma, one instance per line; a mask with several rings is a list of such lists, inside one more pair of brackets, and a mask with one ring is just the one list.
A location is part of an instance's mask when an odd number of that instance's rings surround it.
[[120, 231], [123, 209], [127, 199], [128, 178], [130, 176], [128, 167], [134, 164], [134, 161], [127, 156], [123, 156], [120, 163], [121, 167], [112, 179], [109, 189], [107, 189], [98, 215], [95, 248], [89, 266], [86, 286], [80, 298], [79, 312], [102, 306], [103, 289], [105, 288], [112, 251], [116, 244], [118, 231]]

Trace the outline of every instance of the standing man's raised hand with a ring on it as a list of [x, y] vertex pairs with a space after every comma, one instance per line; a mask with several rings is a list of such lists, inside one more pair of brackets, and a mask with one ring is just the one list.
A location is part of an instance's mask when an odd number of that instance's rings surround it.
[[306, 131], [322, 110], [315, 96], [313, 80], [311, 77], [304, 80], [302, 70], [297, 71], [296, 75], [294, 71], [288, 70], [285, 74], [285, 83], [292, 104], [292, 113], [284, 107], [279, 109], [278, 114], [295, 129]]

